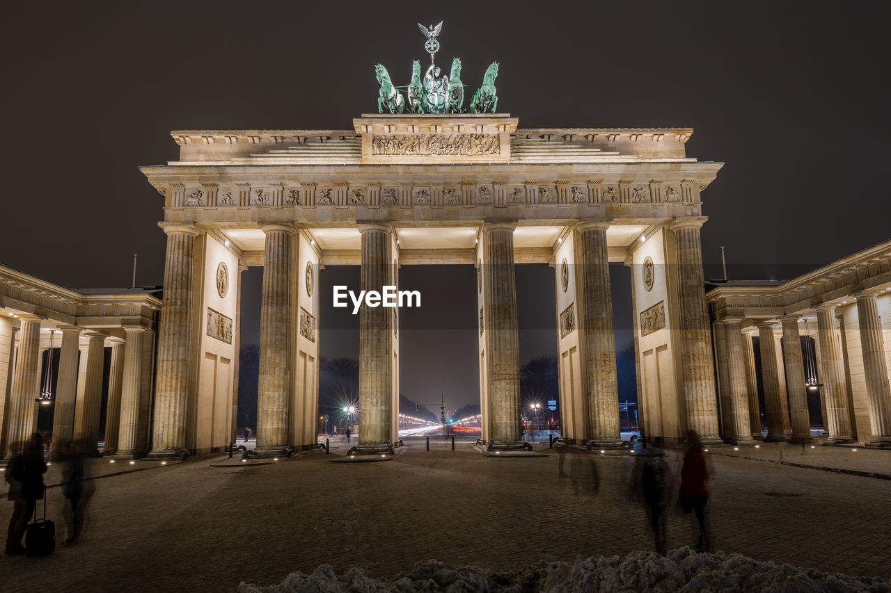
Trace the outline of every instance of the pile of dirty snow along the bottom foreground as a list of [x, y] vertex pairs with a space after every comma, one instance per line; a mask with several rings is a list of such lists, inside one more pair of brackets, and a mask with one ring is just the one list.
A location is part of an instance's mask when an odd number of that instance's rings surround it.
[[625, 557], [576, 558], [574, 563], [540, 562], [517, 573], [486, 571], [472, 567], [448, 569], [437, 560], [414, 565], [411, 573], [396, 581], [376, 581], [358, 568], [337, 575], [330, 565], [321, 565], [312, 574], [290, 573], [282, 584], [257, 587], [241, 582], [239, 593], [420, 593], [470, 591], [521, 593], [547, 591], [635, 592], [635, 591], [863, 591], [889, 593], [888, 583], [879, 578], [854, 578], [759, 562], [740, 554], [697, 554], [691, 548], [676, 549], [668, 556], [652, 552], [632, 552]]

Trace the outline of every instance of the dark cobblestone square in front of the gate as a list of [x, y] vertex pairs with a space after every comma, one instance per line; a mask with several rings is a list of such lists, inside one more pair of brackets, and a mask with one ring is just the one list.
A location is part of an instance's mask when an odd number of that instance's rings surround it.
[[[333, 450], [254, 467], [196, 459], [109, 476], [96, 481], [78, 546], [0, 556], [0, 590], [232, 591], [323, 563], [387, 579], [430, 558], [509, 570], [653, 548], [642, 508], [625, 498], [634, 459], [570, 451], [560, 477], [556, 451], [489, 459], [456, 448], [415, 444], [362, 464], [330, 463]], [[709, 459], [715, 549], [891, 581], [887, 480]], [[668, 464], [679, 467], [676, 452]], [[12, 504], [0, 508], [6, 521]], [[675, 508], [669, 547], [695, 543]], [[61, 488], [49, 491], [49, 515], [61, 543]]]

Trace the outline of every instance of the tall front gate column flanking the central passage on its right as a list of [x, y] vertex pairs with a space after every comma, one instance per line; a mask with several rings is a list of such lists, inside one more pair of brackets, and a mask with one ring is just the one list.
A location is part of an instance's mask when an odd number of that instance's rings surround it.
[[483, 290], [488, 356], [489, 440], [493, 450], [522, 449], [519, 414], [517, 284], [513, 268], [516, 223], [486, 223]]

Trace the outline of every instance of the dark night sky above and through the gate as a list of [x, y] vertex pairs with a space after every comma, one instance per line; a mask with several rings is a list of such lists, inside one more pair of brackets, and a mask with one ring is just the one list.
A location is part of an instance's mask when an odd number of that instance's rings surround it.
[[[113, 288], [138, 252], [137, 284], [161, 284], [162, 198], [137, 167], [177, 158], [170, 130], [351, 129], [376, 110], [374, 63], [405, 84], [425, 59], [416, 23], [445, 20], [439, 61], [461, 57], [471, 87], [499, 61], [499, 111], [520, 127], [694, 127], [688, 155], [726, 163], [703, 196], [707, 277], [723, 245], [732, 280], [789, 278], [888, 239], [879, 5], [7, 3], [0, 264]], [[520, 267], [523, 362], [556, 353], [556, 337], [552, 270]], [[257, 318], [261, 273], [244, 276]], [[404, 391], [477, 389], [472, 268], [406, 266], [401, 280], [426, 299], [402, 313]], [[334, 312], [323, 355], [356, 356]], [[256, 335], [246, 321], [243, 340]]]

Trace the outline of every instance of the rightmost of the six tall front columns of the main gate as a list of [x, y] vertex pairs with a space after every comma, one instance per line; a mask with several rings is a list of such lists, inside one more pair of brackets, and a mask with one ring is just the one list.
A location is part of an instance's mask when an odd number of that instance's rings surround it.
[[685, 218], [671, 225], [677, 252], [681, 368], [687, 428], [695, 430], [703, 444], [721, 444], [699, 242], [699, 227], [704, 222], [705, 218]]

